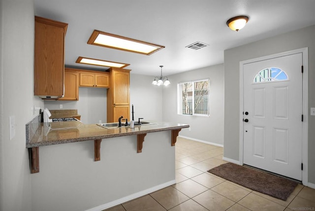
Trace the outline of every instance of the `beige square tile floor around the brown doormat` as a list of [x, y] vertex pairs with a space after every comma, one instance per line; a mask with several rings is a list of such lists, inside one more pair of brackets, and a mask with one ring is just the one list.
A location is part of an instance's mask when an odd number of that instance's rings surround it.
[[207, 171], [226, 161], [223, 148], [177, 138], [176, 184], [106, 211], [315, 211], [315, 189], [298, 185], [282, 201]]

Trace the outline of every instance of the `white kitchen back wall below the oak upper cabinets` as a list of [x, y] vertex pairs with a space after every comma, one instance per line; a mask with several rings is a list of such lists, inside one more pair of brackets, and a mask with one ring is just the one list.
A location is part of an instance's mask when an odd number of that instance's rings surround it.
[[[59, 108], [62, 104], [63, 108]], [[107, 89], [79, 87], [79, 101], [45, 101], [51, 110], [77, 109], [84, 124], [97, 124], [107, 121]]]

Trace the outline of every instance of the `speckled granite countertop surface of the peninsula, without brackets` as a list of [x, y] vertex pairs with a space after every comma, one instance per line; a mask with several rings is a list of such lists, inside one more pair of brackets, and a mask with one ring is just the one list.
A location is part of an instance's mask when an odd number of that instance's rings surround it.
[[46, 124], [38, 124], [32, 138], [27, 140], [26, 148], [189, 128], [189, 125], [167, 122], [134, 126], [134, 129], [130, 127], [105, 129], [96, 124], [85, 125], [80, 121], [50, 122], [50, 127]]

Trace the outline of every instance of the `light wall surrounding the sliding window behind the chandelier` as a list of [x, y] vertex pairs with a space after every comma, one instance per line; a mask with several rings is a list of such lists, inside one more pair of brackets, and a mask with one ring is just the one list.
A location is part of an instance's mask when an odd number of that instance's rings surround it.
[[[163, 89], [163, 121], [189, 124], [180, 135], [223, 145], [224, 68], [223, 64], [192, 70], [168, 77], [171, 85]], [[210, 79], [210, 116], [177, 114], [177, 83]]]

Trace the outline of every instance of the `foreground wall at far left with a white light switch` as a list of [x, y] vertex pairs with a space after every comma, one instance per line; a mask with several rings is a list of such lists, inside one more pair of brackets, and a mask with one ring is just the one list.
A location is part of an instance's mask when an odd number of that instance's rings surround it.
[[32, 211], [25, 125], [35, 117], [31, 107], [43, 106], [33, 96], [33, 0], [1, 0], [0, 30], [0, 211]]

